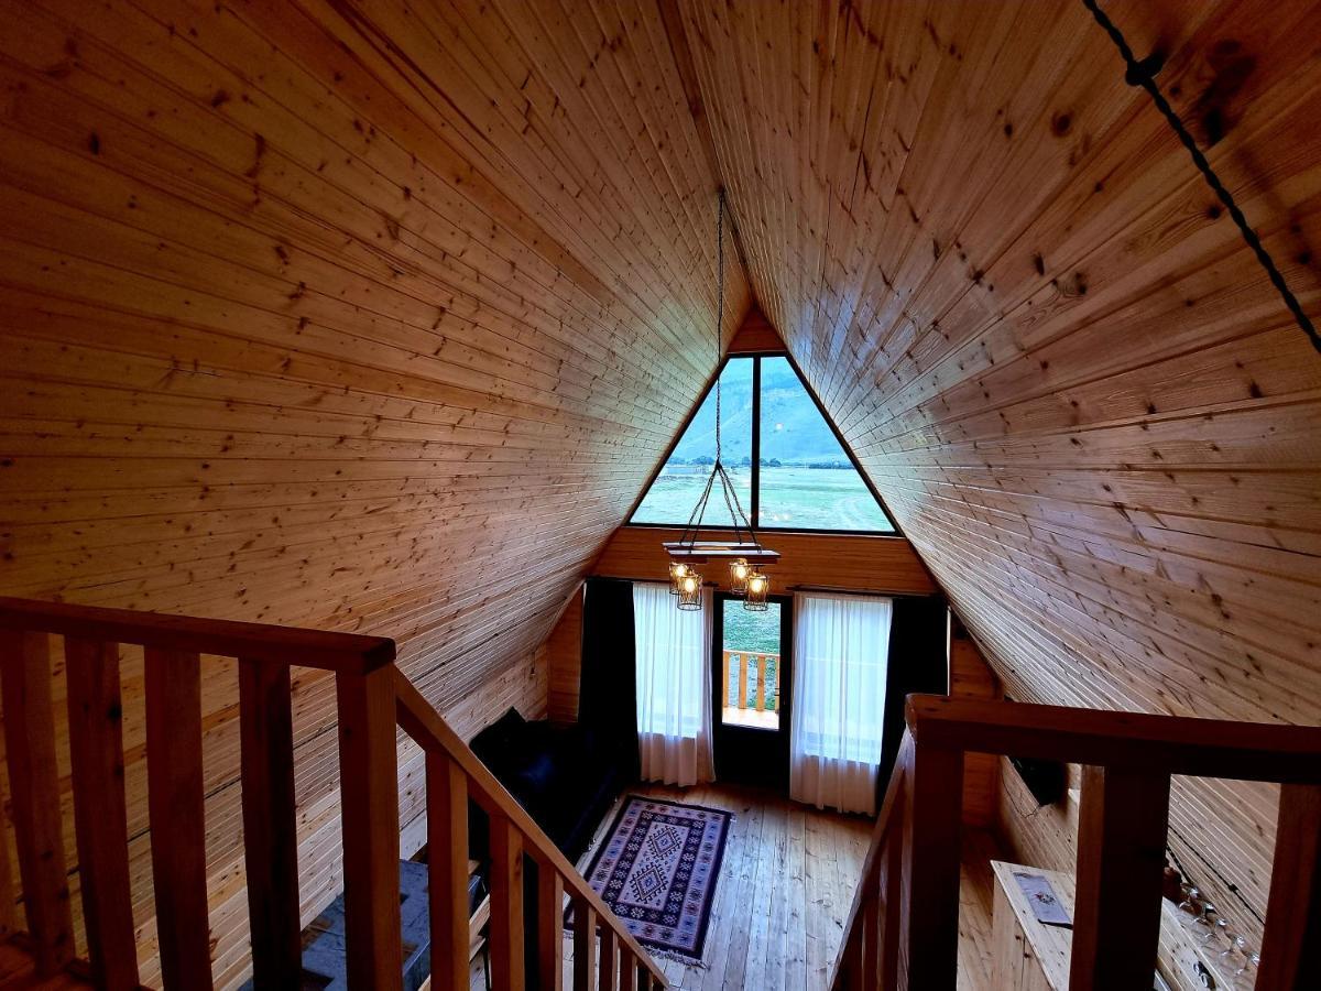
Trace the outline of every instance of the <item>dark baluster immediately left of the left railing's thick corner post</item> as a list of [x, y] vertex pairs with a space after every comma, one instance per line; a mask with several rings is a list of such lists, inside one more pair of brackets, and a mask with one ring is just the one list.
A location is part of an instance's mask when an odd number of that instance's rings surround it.
[[288, 665], [239, 658], [239, 740], [252, 986], [284, 991], [303, 979]]

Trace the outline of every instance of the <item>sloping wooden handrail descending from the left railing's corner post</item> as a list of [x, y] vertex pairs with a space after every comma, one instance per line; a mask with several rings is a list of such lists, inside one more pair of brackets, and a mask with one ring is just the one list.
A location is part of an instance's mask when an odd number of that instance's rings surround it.
[[[602, 929], [609, 928], [614, 939], [627, 950], [629, 954], [647, 970], [653, 986], [666, 987], [667, 979], [659, 965], [651, 959], [650, 954], [629, 933], [627, 928], [618, 920], [614, 912], [605, 904], [600, 895], [587, 883], [577, 868], [569, 863], [568, 858], [560, 852], [555, 842], [546, 835], [544, 830], [527, 814], [518, 799], [491, 774], [476, 753], [464, 740], [450, 729], [445, 719], [427, 702], [417, 687], [410, 682], [403, 673], [395, 673], [395, 692], [398, 704], [399, 725], [427, 753], [441, 753], [468, 778], [477, 802], [493, 815], [503, 817], [528, 842], [528, 851], [543, 869], [556, 872], [564, 883], [567, 893], [575, 902], [585, 904], [596, 914]], [[428, 778], [428, 786], [431, 780]], [[428, 790], [428, 802], [431, 794]], [[581, 918], [583, 913], [576, 913]], [[494, 916], [494, 906], [493, 906]], [[559, 916], [559, 912], [556, 913]], [[543, 924], [547, 920], [542, 920]], [[581, 922], [579, 922], [581, 928]], [[433, 957], [435, 958], [435, 957]], [[543, 978], [544, 980], [544, 978]], [[602, 984], [605, 986], [605, 984]]]

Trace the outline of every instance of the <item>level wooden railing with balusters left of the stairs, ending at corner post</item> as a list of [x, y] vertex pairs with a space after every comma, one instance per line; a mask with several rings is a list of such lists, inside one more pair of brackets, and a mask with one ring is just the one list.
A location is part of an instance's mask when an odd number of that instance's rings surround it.
[[[123, 773], [122, 645], [143, 647], [148, 822], [164, 986], [169, 991], [211, 987], [203, 655], [238, 662], [243, 847], [258, 986], [292, 987], [301, 970], [293, 666], [332, 671], [336, 678], [350, 974], [357, 986], [365, 986], [362, 976], [367, 974], [394, 970], [396, 980], [402, 976], [398, 813], [391, 823], [378, 813], [357, 811], [396, 809], [392, 641], [4, 597], [0, 694], [9, 807], [38, 976], [82, 966], [74, 959], [62, 821], [65, 784], [55, 760], [52, 634], [63, 638], [86, 966], [96, 987], [137, 988], [140, 976]], [[388, 721], [376, 716], [382, 687], [391, 691]], [[384, 881], [376, 876], [382, 864], [388, 865]], [[7, 863], [0, 863], [0, 891], [13, 891]], [[392, 916], [380, 910], [388, 904], [395, 905]]]

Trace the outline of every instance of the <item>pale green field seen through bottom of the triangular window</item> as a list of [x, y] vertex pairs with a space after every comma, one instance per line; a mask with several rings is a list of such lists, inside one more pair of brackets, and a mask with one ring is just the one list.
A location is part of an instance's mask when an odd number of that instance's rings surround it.
[[[711, 469], [705, 466], [666, 465], [638, 506], [633, 522], [683, 526], [709, 476]], [[729, 476], [744, 513], [750, 515], [752, 470], [729, 469]], [[731, 525], [729, 511], [719, 489], [712, 489], [704, 522], [708, 526]], [[779, 530], [893, 531], [872, 493], [852, 468], [762, 468], [760, 526]]]

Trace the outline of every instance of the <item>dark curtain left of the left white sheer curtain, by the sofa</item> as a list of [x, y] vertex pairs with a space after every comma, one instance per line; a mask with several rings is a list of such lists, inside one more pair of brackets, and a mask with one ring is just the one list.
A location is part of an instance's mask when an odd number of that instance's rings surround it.
[[638, 756], [637, 655], [633, 583], [588, 579], [583, 601], [583, 673], [579, 723], [630, 754], [630, 780], [642, 773]]

